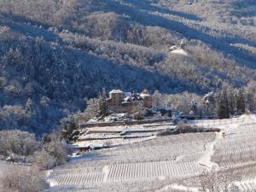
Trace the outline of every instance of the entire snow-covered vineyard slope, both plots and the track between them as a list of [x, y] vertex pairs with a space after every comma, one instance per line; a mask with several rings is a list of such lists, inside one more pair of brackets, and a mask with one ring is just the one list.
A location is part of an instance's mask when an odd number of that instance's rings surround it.
[[102, 149], [56, 167], [50, 191], [197, 191], [204, 169], [236, 169], [241, 191], [256, 190], [256, 116], [191, 122], [219, 133], [189, 133]]

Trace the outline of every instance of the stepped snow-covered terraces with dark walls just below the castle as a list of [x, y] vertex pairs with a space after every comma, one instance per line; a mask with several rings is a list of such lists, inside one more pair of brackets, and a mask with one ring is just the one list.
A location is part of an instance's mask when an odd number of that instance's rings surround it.
[[82, 130], [78, 142], [73, 146], [83, 148], [101, 148], [101, 146], [116, 147], [124, 144], [138, 143], [151, 140], [159, 131], [174, 129], [172, 122], [152, 123], [145, 125], [117, 125], [91, 127]]

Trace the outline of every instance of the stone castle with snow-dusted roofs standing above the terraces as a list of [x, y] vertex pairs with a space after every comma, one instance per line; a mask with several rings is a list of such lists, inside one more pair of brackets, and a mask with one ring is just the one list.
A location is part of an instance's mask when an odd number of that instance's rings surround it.
[[152, 108], [152, 96], [148, 90], [142, 93], [123, 92], [119, 89], [113, 89], [109, 92], [107, 99], [107, 107], [115, 113], [131, 113], [138, 106], [144, 108]]

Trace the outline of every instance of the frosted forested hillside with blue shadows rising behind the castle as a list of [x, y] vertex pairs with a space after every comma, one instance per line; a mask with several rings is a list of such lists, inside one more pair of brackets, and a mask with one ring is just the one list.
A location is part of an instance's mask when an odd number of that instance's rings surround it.
[[40, 134], [102, 87], [202, 95], [255, 80], [256, 2], [0, 0], [0, 44], [0, 130]]

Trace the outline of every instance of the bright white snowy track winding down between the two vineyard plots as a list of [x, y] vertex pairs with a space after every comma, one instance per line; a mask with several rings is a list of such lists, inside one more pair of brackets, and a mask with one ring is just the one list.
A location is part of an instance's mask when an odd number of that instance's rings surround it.
[[222, 137], [222, 131], [216, 134], [215, 139], [211, 143], [207, 143], [206, 153], [202, 155], [201, 159], [199, 160], [199, 165], [207, 167], [208, 169], [212, 169], [213, 167], [218, 169], [218, 164], [212, 162], [212, 155], [214, 154], [214, 145], [218, 142], [218, 140]]

